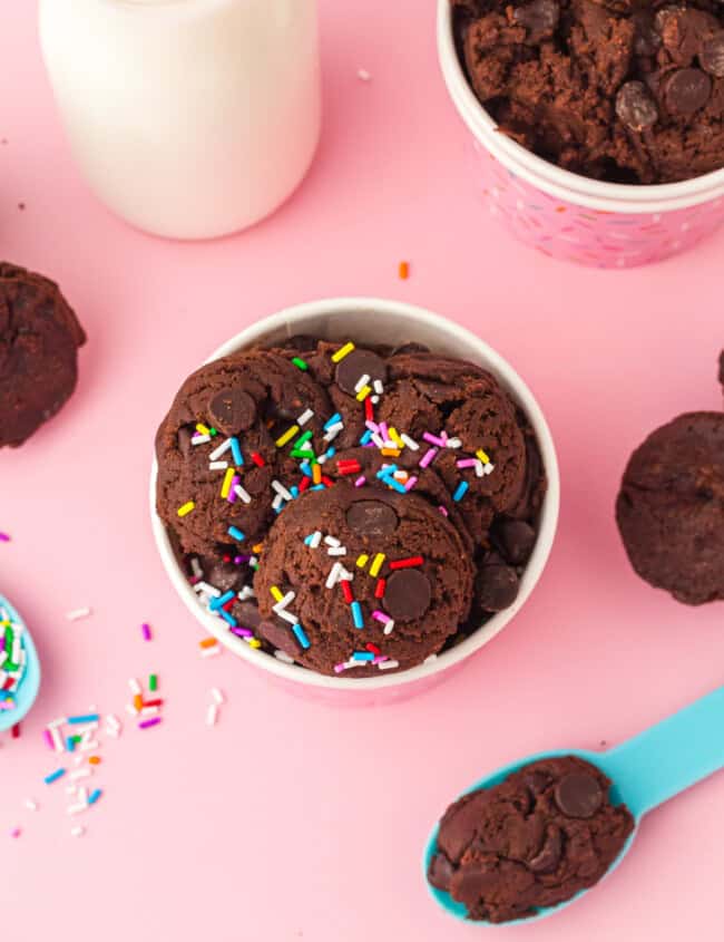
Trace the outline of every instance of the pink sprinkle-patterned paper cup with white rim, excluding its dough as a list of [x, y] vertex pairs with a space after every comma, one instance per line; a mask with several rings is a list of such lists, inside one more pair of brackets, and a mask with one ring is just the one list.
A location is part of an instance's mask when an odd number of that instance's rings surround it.
[[724, 169], [683, 183], [601, 183], [560, 169], [498, 130], [458, 58], [450, 0], [438, 0], [438, 52], [452, 101], [473, 138], [491, 215], [555, 259], [600, 269], [658, 262], [724, 222]]

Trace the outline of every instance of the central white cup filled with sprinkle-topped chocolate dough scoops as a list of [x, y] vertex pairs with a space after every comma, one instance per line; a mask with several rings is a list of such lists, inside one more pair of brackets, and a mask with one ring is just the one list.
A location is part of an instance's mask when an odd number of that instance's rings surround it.
[[219, 648], [297, 692], [424, 690], [508, 624], [550, 552], [558, 468], [536, 400], [419, 308], [281, 311], [158, 418], [151, 518], [174, 587]]

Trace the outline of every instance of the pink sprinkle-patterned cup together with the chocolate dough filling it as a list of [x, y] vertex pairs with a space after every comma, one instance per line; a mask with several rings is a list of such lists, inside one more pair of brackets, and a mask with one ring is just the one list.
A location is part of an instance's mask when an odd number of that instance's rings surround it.
[[438, 49], [490, 212], [528, 245], [632, 268], [724, 221], [715, 0], [438, 0]]

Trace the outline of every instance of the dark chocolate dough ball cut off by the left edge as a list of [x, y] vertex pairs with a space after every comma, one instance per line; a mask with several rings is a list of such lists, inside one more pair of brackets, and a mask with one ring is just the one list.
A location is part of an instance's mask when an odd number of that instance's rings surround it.
[[57, 284], [0, 262], [0, 448], [22, 445], [67, 402], [85, 342]]

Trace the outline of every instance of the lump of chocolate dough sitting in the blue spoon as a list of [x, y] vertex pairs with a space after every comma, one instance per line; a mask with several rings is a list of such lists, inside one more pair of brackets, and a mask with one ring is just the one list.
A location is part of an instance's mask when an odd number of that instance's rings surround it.
[[610, 780], [574, 756], [524, 766], [464, 795], [440, 822], [428, 880], [471, 920], [508, 922], [597, 883], [634, 829]]

